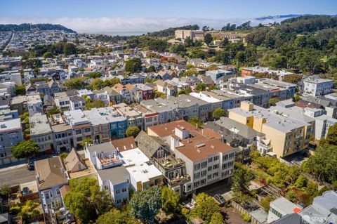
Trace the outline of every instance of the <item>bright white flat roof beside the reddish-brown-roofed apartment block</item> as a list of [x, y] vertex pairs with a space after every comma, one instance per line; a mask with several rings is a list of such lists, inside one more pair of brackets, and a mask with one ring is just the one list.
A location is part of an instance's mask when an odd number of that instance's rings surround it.
[[119, 152], [123, 160], [123, 166], [128, 170], [130, 176], [136, 180], [145, 183], [150, 178], [161, 176], [161, 172], [148, 159], [138, 147], [133, 150]]

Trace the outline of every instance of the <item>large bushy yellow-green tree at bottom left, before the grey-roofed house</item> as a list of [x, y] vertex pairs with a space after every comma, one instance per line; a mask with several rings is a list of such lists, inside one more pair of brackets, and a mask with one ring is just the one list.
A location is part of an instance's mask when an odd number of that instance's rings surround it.
[[91, 223], [112, 209], [112, 199], [101, 191], [95, 178], [70, 180], [70, 191], [65, 194], [65, 206], [81, 223]]

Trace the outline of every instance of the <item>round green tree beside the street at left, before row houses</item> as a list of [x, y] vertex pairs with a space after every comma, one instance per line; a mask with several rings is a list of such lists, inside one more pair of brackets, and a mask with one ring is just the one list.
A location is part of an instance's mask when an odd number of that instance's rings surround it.
[[39, 145], [34, 140], [24, 140], [12, 146], [12, 155], [16, 159], [29, 159], [40, 150]]

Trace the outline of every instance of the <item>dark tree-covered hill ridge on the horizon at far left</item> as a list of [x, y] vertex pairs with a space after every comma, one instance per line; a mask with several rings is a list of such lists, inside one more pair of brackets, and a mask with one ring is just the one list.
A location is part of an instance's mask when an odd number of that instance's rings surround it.
[[65, 32], [75, 32], [72, 29], [64, 27], [62, 25], [54, 25], [50, 23], [39, 23], [39, 24], [32, 24], [32, 23], [22, 23], [20, 25], [16, 24], [0, 24], [0, 31], [23, 31], [23, 30], [48, 30], [48, 29], [55, 29], [55, 30], [63, 30]]

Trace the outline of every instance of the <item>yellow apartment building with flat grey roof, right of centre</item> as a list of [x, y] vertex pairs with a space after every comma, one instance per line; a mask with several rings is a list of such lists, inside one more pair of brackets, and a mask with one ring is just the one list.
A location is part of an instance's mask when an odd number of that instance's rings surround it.
[[294, 119], [277, 110], [242, 102], [240, 107], [228, 110], [228, 117], [264, 133], [271, 140], [272, 152], [277, 158], [286, 157], [308, 147], [312, 124]]

